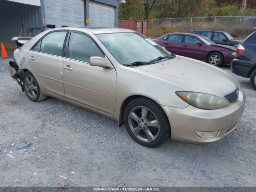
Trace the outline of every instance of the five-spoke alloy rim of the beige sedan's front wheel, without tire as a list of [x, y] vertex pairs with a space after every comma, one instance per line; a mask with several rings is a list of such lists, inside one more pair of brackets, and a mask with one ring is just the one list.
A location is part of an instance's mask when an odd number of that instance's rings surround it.
[[133, 108], [129, 113], [128, 123], [132, 133], [144, 142], [152, 142], [159, 136], [159, 121], [146, 107]]

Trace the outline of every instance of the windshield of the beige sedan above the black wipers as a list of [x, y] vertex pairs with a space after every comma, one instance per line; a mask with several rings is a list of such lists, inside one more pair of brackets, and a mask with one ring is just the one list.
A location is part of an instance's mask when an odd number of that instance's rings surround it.
[[96, 35], [106, 49], [122, 65], [150, 62], [158, 57], [172, 56], [164, 48], [136, 32]]

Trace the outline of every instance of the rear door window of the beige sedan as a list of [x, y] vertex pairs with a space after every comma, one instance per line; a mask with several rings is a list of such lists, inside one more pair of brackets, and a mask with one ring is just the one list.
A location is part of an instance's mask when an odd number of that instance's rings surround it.
[[62, 56], [62, 49], [66, 34], [66, 31], [59, 31], [50, 33], [45, 36], [42, 39], [40, 52]]

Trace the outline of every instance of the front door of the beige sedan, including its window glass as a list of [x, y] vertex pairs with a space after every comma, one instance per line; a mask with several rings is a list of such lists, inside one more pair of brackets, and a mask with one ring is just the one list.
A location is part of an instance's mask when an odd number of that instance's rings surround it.
[[71, 32], [62, 74], [65, 98], [109, 115], [114, 114], [116, 70], [90, 66], [91, 56], [105, 57], [88, 35]]

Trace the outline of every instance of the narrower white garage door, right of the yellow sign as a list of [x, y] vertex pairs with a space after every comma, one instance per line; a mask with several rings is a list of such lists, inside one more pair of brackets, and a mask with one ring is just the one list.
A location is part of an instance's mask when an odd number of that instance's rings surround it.
[[115, 9], [113, 6], [89, 1], [90, 26], [114, 27]]

